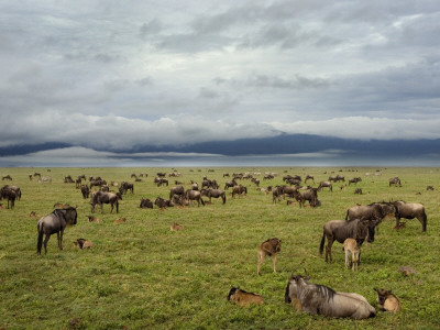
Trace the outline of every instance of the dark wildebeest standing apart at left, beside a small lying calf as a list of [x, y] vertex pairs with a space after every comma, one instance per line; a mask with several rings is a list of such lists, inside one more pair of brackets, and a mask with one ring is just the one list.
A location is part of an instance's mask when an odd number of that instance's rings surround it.
[[[76, 224], [77, 220], [76, 208], [55, 209], [51, 215], [44, 216], [38, 220], [36, 226], [38, 231], [38, 239], [36, 243], [36, 252], [41, 254], [44, 244], [44, 253], [47, 253], [47, 241], [53, 233], [58, 238], [58, 248], [63, 250], [63, 233], [67, 224]], [[43, 243], [43, 234], [44, 243]]]

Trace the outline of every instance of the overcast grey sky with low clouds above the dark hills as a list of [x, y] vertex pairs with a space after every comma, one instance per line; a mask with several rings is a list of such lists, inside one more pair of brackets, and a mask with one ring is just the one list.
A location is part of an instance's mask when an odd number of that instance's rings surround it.
[[440, 138], [440, 2], [0, 0], [0, 147]]

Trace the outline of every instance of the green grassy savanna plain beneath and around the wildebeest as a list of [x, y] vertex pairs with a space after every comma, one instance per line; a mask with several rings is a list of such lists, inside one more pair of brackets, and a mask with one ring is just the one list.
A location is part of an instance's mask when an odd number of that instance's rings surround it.
[[[342, 169], [342, 172], [339, 172]], [[178, 178], [168, 177], [168, 187], [153, 184], [157, 172], [172, 168], [0, 168], [22, 190], [14, 209], [0, 209], [0, 328], [6, 329], [433, 329], [440, 315], [440, 217], [438, 168], [177, 168]], [[50, 175], [52, 183], [29, 179], [35, 172]], [[327, 180], [331, 172], [345, 179], [362, 177], [358, 185], [341, 190], [318, 193], [319, 208], [299, 208], [286, 200], [272, 202], [272, 194], [258, 191], [253, 183], [246, 196], [227, 204], [212, 199], [205, 207], [141, 209], [141, 198], [167, 198], [174, 180], [190, 187], [202, 177], [217, 179], [220, 187], [229, 178], [223, 173], [254, 174], [260, 187], [282, 185], [286, 174], [309, 173], [314, 187]], [[265, 172], [278, 174], [264, 180]], [[372, 173], [365, 176], [365, 173]], [[135, 183], [131, 174], [148, 174]], [[134, 183], [134, 193], [120, 201], [119, 213], [105, 205], [101, 223], [88, 222], [90, 200], [82, 199], [75, 184], [65, 184], [70, 175], [101, 176], [108, 183]], [[398, 176], [403, 187], [388, 187]], [[346, 183], [346, 182], [345, 182]], [[311, 183], [310, 183], [311, 184]], [[348, 183], [346, 183], [348, 184]], [[427, 191], [427, 186], [436, 190]], [[354, 195], [355, 188], [363, 195]], [[230, 190], [229, 190], [230, 191]], [[420, 194], [418, 194], [420, 193]], [[349, 207], [374, 201], [403, 199], [421, 202], [428, 215], [428, 230], [421, 232], [417, 219], [402, 221], [406, 228], [394, 230], [394, 219], [380, 226], [374, 243], [362, 246], [358, 272], [344, 267], [340, 243], [333, 244], [333, 263], [319, 255], [322, 226], [344, 219]], [[205, 200], [207, 198], [205, 197]], [[6, 200], [1, 201], [6, 205]], [[56, 235], [48, 242], [47, 254], [36, 254], [36, 222], [31, 211], [51, 213], [55, 202], [77, 206], [78, 223], [66, 229], [64, 250]], [[118, 218], [127, 222], [116, 224]], [[183, 231], [170, 231], [174, 222]], [[94, 242], [79, 250], [74, 242], [84, 238]], [[270, 239], [282, 240], [277, 273], [266, 258], [262, 275], [256, 275], [256, 246]], [[399, 266], [411, 266], [415, 274], [404, 276]], [[392, 315], [377, 312], [372, 319], [354, 321], [297, 314], [284, 302], [287, 280], [293, 271], [307, 270], [311, 283], [336, 290], [363, 295], [377, 308], [374, 287], [392, 289], [403, 310]], [[227, 300], [231, 286], [262, 295], [265, 304], [241, 308]], [[70, 324], [69, 324], [70, 321]]]

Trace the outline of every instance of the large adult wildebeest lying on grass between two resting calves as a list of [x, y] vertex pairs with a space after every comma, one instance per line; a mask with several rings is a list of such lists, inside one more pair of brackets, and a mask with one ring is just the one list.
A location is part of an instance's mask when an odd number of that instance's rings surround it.
[[365, 297], [354, 293], [339, 293], [327, 286], [309, 283], [304, 275], [292, 274], [284, 300], [297, 311], [355, 320], [376, 316]]

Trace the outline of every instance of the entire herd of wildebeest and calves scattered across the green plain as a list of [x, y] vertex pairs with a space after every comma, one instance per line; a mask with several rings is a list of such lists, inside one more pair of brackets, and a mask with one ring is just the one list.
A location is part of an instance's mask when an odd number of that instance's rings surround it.
[[[370, 175], [370, 174], [365, 174]], [[381, 175], [376, 173], [375, 175]], [[318, 199], [318, 193], [322, 189], [332, 191], [336, 183], [341, 183], [339, 188], [341, 190], [346, 188], [345, 178], [342, 175], [330, 175], [328, 180], [320, 182], [318, 187], [314, 188], [307, 184], [310, 180], [315, 184], [315, 178], [307, 175], [305, 179], [298, 175], [285, 175], [283, 177], [284, 185], [260, 187], [262, 180], [271, 183], [276, 174], [265, 173], [238, 173], [230, 175], [223, 174], [226, 178], [224, 188], [221, 189], [216, 179], [209, 179], [204, 176], [201, 184], [190, 182], [190, 187], [185, 188], [180, 179], [180, 173], [176, 169], [168, 174], [157, 173], [154, 177], [154, 184], [157, 186], [169, 185], [168, 178], [173, 177], [174, 186], [169, 189], [169, 195], [164, 197], [158, 196], [154, 201], [142, 198], [140, 208], [150, 208], [154, 206], [162, 210], [168, 207], [188, 207], [197, 204], [198, 207], [205, 206], [206, 202], [211, 202], [212, 198], [221, 198], [222, 204], [227, 202], [227, 191], [231, 189], [229, 196], [232, 198], [245, 196], [248, 194], [248, 185], [243, 182], [252, 182], [256, 189], [270, 195], [272, 194], [272, 202], [280, 202], [285, 200], [287, 205], [298, 204], [299, 207], [317, 208], [321, 206]], [[30, 180], [38, 178], [38, 184], [51, 184], [51, 176], [41, 176], [40, 173], [29, 175]], [[142, 182], [147, 177], [147, 174], [135, 175], [131, 177], [135, 183]], [[232, 177], [232, 178], [231, 178]], [[3, 176], [2, 180], [12, 180], [10, 175]], [[123, 195], [134, 193], [133, 183], [122, 182], [120, 184], [110, 182], [108, 184], [101, 177], [89, 177], [88, 183], [85, 175], [78, 176], [74, 180], [70, 176], [64, 178], [65, 183], [75, 183], [76, 188], [80, 190], [84, 199], [90, 198], [90, 212], [94, 213], [96, 208], [99, 207], [103, 213], [103, 206], [110, 205], [110, 212], [119, 212], [119, 200], [122, 200]], [[348, 180], [348, 185], [356, 185], [362, 182], [361, 177], [354, 177]], [[240, 184], [239, 184], [240, 183]], [[189, 184], [189, 183], [188, 183]], [[389, 187], [402, 187], [402, 182], [398, 177], [389, 178]], [[95, 188], [95, 189], [94, 189]], [[94, 190], [92, 190], [94, 189]], [[433, 190], [431, 186], [427, 190]], [[362, 194], [362, 189], [356, 188], [355, 194]], [[13, 208], [15, 200], [20, 200], [22, 191], [20, 187], [14, 185], [4, 185], [0, 190], [0, 198], [8, 201], [7, 207]], [[206, 198], [206, 200], [204, 200]], [[286, 200], [287, 198], [287, 200]], [[307, 202], [307, 204], [306, 204]], [[0, 205], [4, 208], [3, 205]], [[63, 233], [67, 224], [76, 224], [77, 210], [76, 207], [68, 205], [55, 205], [52, 213], [42, 217], [37, 222], [37, 253], [41, 254], [44, 246], [47, 253], [47, 242], [50, 237], [54, 233], [57, 234], [58, 248], [63, 250]], [[33, 213], [33, 215], [32, 215]], [[31, 217], [34, 212], [31, 212]], [[365, 240], [367, 242], [374, 241], [375, 231], [378, 224], [389, 218], [396, 219], [394, 229], [400, 229], [405, 226], [400, 222], [402, 218], [414, 219], [417, 218], [421, 223], [421, 230], [427, 230], [427, 215], [425, 207], [418, 202], [397, 201], [377, 201], [370, 205], [355, 205], [346, 210], [345, 220], [331, 220], [324, 223], [322, 239], [319, 245], [320, 254], [326, 250], [326, 262], [332, 262], [331, 248], [334, 241], [343, 244], [345, 251], [345, 266], [355, 271], [359, 268], [361, 246]], [[89, 221], [100, 221], [99, 218], [88, 216]], [[125, 221], [121, 218], [117, 221]], [[178, 223], [173, 223], [170, 230], [183, 230], [184, 227]], [[43, 241], [44, 237], [44, 241]], [[326, 245], [327, 240], [327, 245]], [[78, 239], [75, 242], [79, 249], [89, 249], [94, 243], [85, 239]], [[261, 265], [266, 256], [273, 258], [273, 270], [276, 273], [276, 255], [280, 252], [282, 241], [277, 238], [268, 239], [257, 246], [257, 275], [261, 273]], [[351, 262], [350, 262], [351, 257]], [[413, 272], [410, 268], [402, 270], [406, 274]], [[398, 298], [391, 292], [384, 288], [375, 288], [377, 292], [377, 306], [381, 310], [397, 312], [402, 309]], [[240, 306], [251, 304], [263, 304], [264, 299], [261, 295], [246, 293], [240, 288], [232, 287], [228, 295], [228, 300], [231, 300]], [[374, 317], [376, 315], [375, 308], [363, 296], [354, 293], [336, 292], [327, 286], [312, 284], [309, 282], [307, 273], [299, 274], [293, 272], [285, 292], [285, 301], [292, 304], [297, 311], [306, 311], [310, 315], [324, 315], [329, 317], [349, 317], [353, 319], [364, 319]]]

